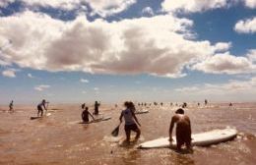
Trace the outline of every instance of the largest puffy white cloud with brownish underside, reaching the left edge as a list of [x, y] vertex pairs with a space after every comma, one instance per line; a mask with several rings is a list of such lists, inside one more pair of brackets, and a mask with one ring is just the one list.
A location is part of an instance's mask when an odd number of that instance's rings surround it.
[[89, 22], [79, 16], [62, 22], [26, 11], [0, 18], [0, 41], [11, 41], [0, 59], [22, 68], [52, 72], [180, 78], [185, 76], [186, 66], [231, 45], [187, 39], [192, 26], [191, 20], [172, 15], [113, 23]]

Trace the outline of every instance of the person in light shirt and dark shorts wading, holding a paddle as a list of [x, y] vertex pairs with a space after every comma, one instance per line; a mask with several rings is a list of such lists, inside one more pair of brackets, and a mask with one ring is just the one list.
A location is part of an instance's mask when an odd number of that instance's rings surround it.
[[[141, 124], [139, 123], [137, 117], [133, 112], [134, 110], [133, 102], [126, 101], [124, 103], [124, 106], [126, 107], [126, 109], [121, 112], [119, 120], [120, 120], [120, 123], [122, 123], [122, 118], [124, 117], [124, 121], [125, 121], [124, 130], [126, 134], [126, 141], [130, 142], [131, 131], [136, 132], [135, 140], [140, 138], [141, 130], [138, 128], [137, 124], [139, 126], [141, 126]], [[135, 121], [137, 124], [135, 123]]]

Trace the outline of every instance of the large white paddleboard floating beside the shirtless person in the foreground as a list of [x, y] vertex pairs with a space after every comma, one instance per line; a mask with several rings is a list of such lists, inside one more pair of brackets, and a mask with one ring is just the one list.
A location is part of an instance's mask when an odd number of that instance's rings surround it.
[[[213, 130], [210, 132], [200, 133], [192, 135], [192, 145], [196, 146], [207, 146], [226, 140], [235, 138], [237, 131], [235, 129], [223, 129]], [[176, 139], [173, 137], [173, 141], [169, 141], [169, 138], [157, 138], [154, 140], [143, 142], [139, 145], [139, 148], [165, 148], [165, 147], [176, 147]]]

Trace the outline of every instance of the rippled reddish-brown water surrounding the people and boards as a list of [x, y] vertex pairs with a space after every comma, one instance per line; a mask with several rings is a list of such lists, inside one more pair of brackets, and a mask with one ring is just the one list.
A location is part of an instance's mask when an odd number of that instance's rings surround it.
[[[49, 106], [51, 116], [30, 120], [34, 107], [19, 106], [15, 113], [0, 107], [0, 164], [239, 164], [256, 162], [256, 103], [212, 104], [208, 107], [189, 105], [192, 132], [200, 133], [226, 126], [235, 127], [237, 138], [209, 147], [194, 147], [190, 154], [171, 149], [136, 149], [136, 145], [119, 146], [124, 138], [123, 125], [119, 137], [111, 131], [118, 125], [122, 107], [102, 105], [99, 111], [112, 119], [89, 125], [81, 121], [80, 105]], [[150, 113], [137, 115], [142, 124], [138, 143], [166, 137], [176, 107], [150, 106]], [[92, 112], [93, 106], [90, 107]]]

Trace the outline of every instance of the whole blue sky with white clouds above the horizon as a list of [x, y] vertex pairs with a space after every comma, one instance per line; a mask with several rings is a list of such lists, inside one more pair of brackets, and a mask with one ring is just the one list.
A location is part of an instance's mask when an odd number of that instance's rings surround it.
[[1, 0], [0, 104], [256, 101], [256, 0]]

